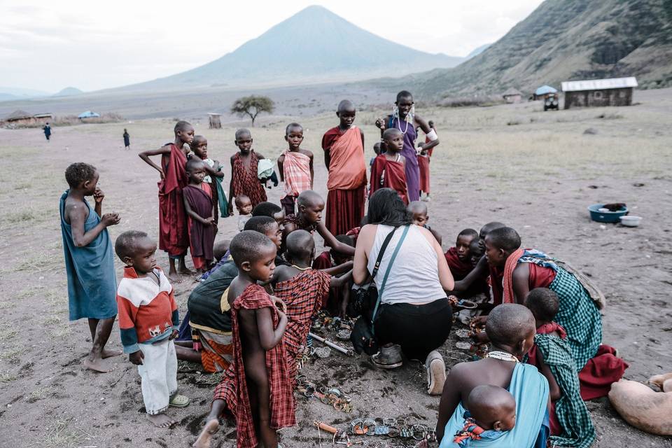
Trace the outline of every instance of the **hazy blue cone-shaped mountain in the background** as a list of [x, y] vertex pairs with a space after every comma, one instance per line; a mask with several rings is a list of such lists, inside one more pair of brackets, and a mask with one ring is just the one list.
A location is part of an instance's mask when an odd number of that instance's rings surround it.
[[114, 90], [363, 80], [451, 67], [463, 60], [388, 41], [321, 6], [309, 6], [209, 64]]

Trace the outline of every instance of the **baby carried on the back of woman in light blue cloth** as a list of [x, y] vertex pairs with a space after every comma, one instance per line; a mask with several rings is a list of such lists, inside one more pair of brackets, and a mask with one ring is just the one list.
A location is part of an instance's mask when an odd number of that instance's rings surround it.
[[[516, 426], [516, 400], [505, 388], [482, 384], [467, 398], [469, 411], [464, 428], [458, 430], [455, 446], [467, 448], [472, 440], [488, 440], [496, 431], [510, 431]], [[496, 435], [496, 434], [494, 434]]]

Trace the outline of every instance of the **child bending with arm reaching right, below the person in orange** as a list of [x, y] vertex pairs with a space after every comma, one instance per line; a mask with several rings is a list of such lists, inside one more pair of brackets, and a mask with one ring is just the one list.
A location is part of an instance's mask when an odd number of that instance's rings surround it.
[[287, 236], [294, 230], [307, 230], [311, 233], [317, 231], [324, 239], [325, 246], [334, 248], [340, 253], [355, 255], [355, 248], [338, 241], [323, 223], [324, 200], [320, 195], [313, 190], [304, 191], [297, 198], [296, 204], [296, 214], [286, 216], [283, 222], [283, 240], [286, 240]]

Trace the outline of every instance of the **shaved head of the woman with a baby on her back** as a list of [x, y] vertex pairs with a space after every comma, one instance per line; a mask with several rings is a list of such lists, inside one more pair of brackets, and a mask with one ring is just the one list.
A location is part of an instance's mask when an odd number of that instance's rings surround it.
[[515, 346], [535, 333], [532, 311], [516, 303], [497, 305], [488, 314], [485, 332], [496, 346]]

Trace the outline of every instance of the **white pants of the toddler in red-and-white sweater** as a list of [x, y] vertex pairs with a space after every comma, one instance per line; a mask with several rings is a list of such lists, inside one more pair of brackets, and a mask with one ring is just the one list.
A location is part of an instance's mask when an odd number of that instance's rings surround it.
[[170, 398], [177, 392], [175, 344], [164, 339], [158, 344], [138, 345], [145, 356], [138, 366], [145, 409], [147, 414], [160, 414], [168, 409]]

